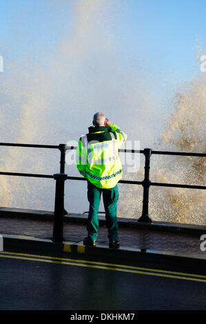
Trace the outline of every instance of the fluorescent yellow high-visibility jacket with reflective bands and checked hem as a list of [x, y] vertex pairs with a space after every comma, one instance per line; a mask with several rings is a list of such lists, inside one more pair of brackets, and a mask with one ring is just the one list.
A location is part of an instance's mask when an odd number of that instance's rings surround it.
[[114, 188], [122, 178], [119, 148], [126, 139], [127, 135], [114, 123], [90, 127], [76, 148], [77, 169], [96, 187]]

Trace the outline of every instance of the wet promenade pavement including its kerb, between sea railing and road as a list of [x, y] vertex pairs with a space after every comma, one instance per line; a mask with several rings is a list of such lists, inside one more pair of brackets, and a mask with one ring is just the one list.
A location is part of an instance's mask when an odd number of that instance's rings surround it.
[[[19, 210], [0, 207], [0, 234], [5, 245], [18, 245], [28, 241], [38, 247], [52, 241], [53, 212], [37, 210]], [[99, 236], [95, 248], [85, 248], [83, 238], [86, 231], [87, 214], [64, 216], [62, 249], [87, 254], [115, 255], [122, 259], [158, 259], [176, 263], [184, 261], [185, 265], [205, 267], [206, 252], [200, 249], [200, 240], [206, 234], [205, 226], [159, 223], [139, 223], [134, 219], [119, 219], [119, 239], [121, 247], [118, 251], [108, 248], [107, 227], [105, 217], [99, 215]], [[205, 235], [206, 238], [206, 235]], [[203, 236], [202, 236], [203, 239]], [[13, 242], [13, 243], [12, 243]], [[203, 245], [202, 245], [203, 246]], [[206, 246], [206, 244], [205, 244]], [[80, 248], [81, 247], [81, 248]], [[51, 247], [50, 247], [51, 248]], [[72, 250], [73, 249], [73, 250]], [[95, 251], [95, 252], [94, 252]], [[112, 254], [113, 253], [113, 254]]]

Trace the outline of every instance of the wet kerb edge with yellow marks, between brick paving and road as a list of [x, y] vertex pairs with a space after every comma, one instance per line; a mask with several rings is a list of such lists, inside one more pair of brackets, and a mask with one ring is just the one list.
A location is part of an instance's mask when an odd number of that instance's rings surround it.
[[206, 270], [206, 256], [197, 254], [179, 254], [177, 252], [164, 252], [157, 250], [140, 250], [132, 247], [110, 249], [104, 245], [87, 247], [83, 241], [53, 242], [52, 239], [37, 239], [32, 236], [14, 234], [1, 234], [3, 237], [3, 250], [21, 250], [21, 252], [44, 252], [50, 254], [63, 254], [63, 256], [89, 256], [104, 257], [105, 259], [145, 261], [162, 265], [181, 265], [193, 269]]

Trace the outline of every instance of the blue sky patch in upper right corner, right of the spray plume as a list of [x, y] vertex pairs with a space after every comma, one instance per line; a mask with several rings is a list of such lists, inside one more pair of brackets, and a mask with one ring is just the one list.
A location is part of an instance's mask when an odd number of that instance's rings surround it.
[[199, 73], [196, 45], [206, 47], [206, 2], [203, 0], [126, 1], [127, 13], [119, 21], [127, 50], [165, 72], [168, 77]]

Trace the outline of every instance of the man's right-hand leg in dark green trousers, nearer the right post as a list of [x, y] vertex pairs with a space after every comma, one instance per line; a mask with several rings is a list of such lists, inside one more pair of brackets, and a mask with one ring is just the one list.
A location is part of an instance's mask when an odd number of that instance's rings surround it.
[[108, 227], [108, 238], [110, 241], [117, 241], [119, 226], [116, 218], [116, 203], [119, 199], [117, 185], [112, 189], [103, 190], [103, 203], [105, 207], [105, 217]]

